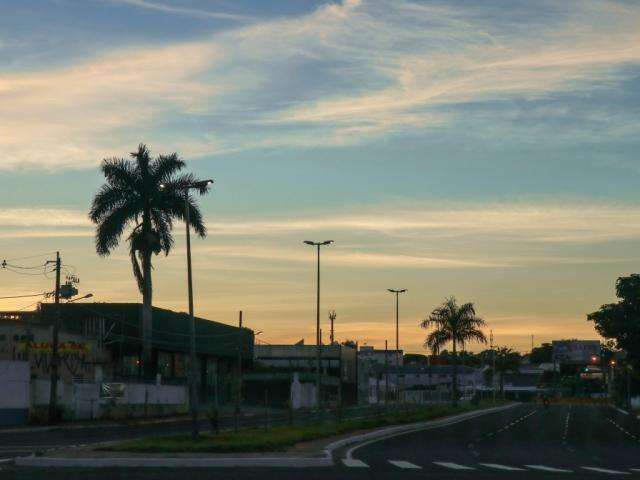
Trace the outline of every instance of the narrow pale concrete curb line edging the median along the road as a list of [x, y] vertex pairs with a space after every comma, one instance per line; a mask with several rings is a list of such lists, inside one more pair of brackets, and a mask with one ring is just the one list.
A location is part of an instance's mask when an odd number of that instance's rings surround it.
[[361, 433], [343, 438], [328, 444], [322, 456], [283, 456], [283, 457], [181, 457], [181, 458], [61, 458], [61, 457], [18, 457], [15, 464], [19, 467], [86, 467], [86, 468], [117, 468], [117, 467], [155, 467], [155, 468], [199, 468], [199, 467], [330, 467], [334, 465], [333, 453], [343, 447], [362, 442], [383, 439], [385, 437], [409, 433], [418, 430], [444, 427], [450, 424], [469, 420], [471, 418], [506, 410], [518, 405], [517, 403], [475, 410], [461, 413], [438, 420], [384, 427], [372, 432]]

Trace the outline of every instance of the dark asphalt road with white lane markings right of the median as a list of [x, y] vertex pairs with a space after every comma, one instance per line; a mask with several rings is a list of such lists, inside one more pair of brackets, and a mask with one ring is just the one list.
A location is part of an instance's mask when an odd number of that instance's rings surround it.
[[[317, 469], [193, 469], [184, 478], [640, 478], [640, 422], [611, 407], [523, 404], [437, 429], [335, 452]], [[212, 471], [213, 470], [213, 471]], [[4, 467], [8, 480], [170, 479], [171, 470], [57, 470]]]

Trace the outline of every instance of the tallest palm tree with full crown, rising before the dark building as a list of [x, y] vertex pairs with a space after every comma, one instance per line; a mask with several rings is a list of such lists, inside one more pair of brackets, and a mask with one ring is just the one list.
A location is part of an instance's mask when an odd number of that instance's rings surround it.
[[[151, 365], [152, 283], [151, 256], [169, 254], [173, 246], [171, 230], [176, 219], [185, 219], [185, 196], [197, 182], [192, 174], [180, 174], [185, 162], [176, 153], [151, 158], [144, 144], [131, 153], [132, 160], [109, 158], [100, 169], [106, 183], [93, 198], [89, 218], [96, 227], [96, 251], [108, 256], [128, 231], [133, 275], [142, 294], [142, 365], [146, 375]], [[196, 189], [207, 193], [208, 185]], [[195, 200], [189, 195], [189, 223], [200, 237], [207, 230]]]

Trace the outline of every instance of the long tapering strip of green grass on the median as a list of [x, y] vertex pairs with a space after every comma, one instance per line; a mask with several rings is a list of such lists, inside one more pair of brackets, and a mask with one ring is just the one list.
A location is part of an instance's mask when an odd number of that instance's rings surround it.
[[167, 435], [129, 440], [100, 450], [132, 453], [231, 453], [282, 451], [300, 442], [334, 437], [358, 430], [388, 425], [401, 425], [433, 420], [457, 413], [494, 406], [493, 403], [462, 405], [429, 405], [420, 409], [390, 412], [375, 417], [350, 418], [342, 421], [324, 421], [309, 425], [251, 428], [218, 435], [204, 433], [197, 439], [190, 435]]

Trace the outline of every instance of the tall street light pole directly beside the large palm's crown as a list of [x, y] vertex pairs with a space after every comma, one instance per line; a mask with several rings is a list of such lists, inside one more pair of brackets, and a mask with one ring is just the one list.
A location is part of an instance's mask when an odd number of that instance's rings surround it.
[[[184, 223], [187, 230], [187, 286], [189, 296], [189, 406], [191, 408], [191, 434], [195, 438], [198, 436], [198, 366], [196, 364], [196, 321], [193, 316], [193, 281], [191, 275], [191, 231], [189, 229], [189, 190], [200, 190], [201, 193], [209, 186], [213, 185], [213, 180], [198, 180], [181, 188], [184, 191]], [[166, 185], [161, 183], [160, 190], [164, 191]]]

